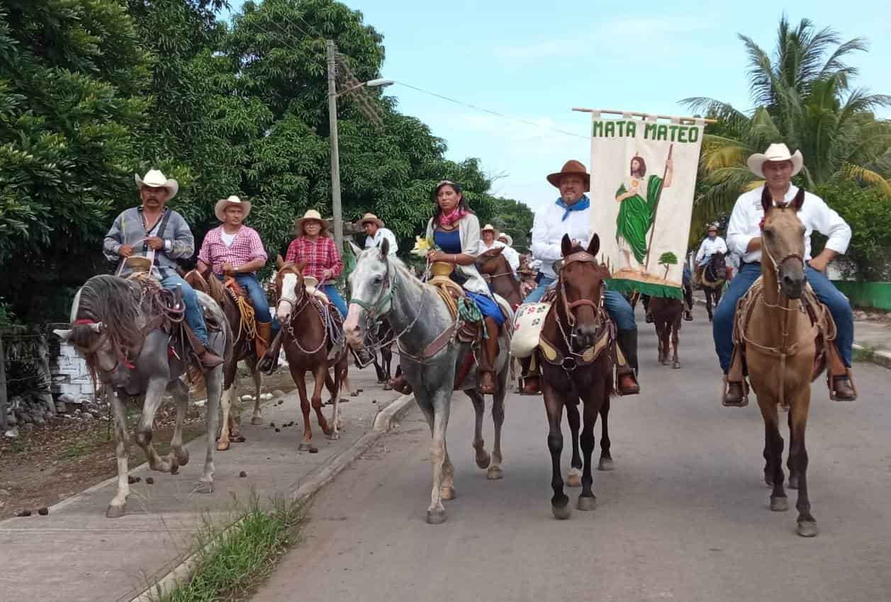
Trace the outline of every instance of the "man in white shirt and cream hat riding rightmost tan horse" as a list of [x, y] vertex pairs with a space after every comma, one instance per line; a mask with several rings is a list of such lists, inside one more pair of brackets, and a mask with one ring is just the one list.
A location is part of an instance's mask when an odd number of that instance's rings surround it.
[[[764, 177], [764, 186], [770, 191], [773, 202], [789, 202], [798, 192], [797, 186], [791, 183], [792, 176], [802, 167], [801, 151], [789, 154], [785, 144], [771, 144], [764, 154], [756, 153], [748, 159], [748, 167], [756, 175]], [[733, 353], [733, 314], [736, 302], [761, 275], [761, 220], [764, 219], [764, 207], [761, 197], [764, 186], [740, 195], [730, 223], [727, 225], [727, 245], [732, 253], [742, 256], [740, 272], [731, 281], [724, 292], [721, 303], [715, 310], [713, 332], [715, 351], [724, 374], [730, 369]], [[851, 228], [838, 213], [832, 210], [820, 197], [805, 192], [805, 200], [798, 211], [798, 219], [805, 224], [805, 277], [820, 301], [829, 307], [832, 318], [836, 322], [838, 334], [835, 345], [845, 366], [850, 369], [852, 345], [854, 344], [854, 316], [847, 298], [838, 292], [826, 277], [826, 264], [847, 250], [851, 240]], [[826, 246], [818, 256], [811, 257], [811, 234], [821, 232], [829, 237]], [[856, 398], [854, 387], [847, 376], [834, 377], [833, 386], [840, 400], [850, 401]], [[739, 406], [742, 403], [742, 383], [728, 382], [727, 394], [723, 404]]]

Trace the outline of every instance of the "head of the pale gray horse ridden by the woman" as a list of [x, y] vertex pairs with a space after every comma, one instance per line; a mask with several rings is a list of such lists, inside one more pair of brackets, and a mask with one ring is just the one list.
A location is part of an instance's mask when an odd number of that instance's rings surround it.
[[347, 343], [360, 348], [368, 324], [389, 313], [393, 306], [396, 274], [389, 257], [387, 239], [380, 243], [380, 248], [366, 248], [363, 251], [352, 243], [350, 248], [356, 256], [356, 267], [349, 275], [349, 312], [343, 329]]

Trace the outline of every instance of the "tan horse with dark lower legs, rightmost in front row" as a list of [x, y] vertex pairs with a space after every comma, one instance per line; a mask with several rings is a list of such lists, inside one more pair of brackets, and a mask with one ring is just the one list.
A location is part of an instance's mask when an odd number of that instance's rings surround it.
[[783, 490], [783, 439], [778, 415], [782, 404], [789, 407], [789, 487], [798, 489], [797, 533], [813, 537], [817, 523], [807, 497], [805, 425], [816, 345], [811, 321], [800, 302], [805, 288], [805, 226], [797, 211], [804, 202], [804, 189], [788, 205], [777, 207], [766, 187], [764, 193], [764, 287], [742, 338], [749, 382], [764, 418], [764, 481], [773, 487], [771, 509], [789, 508]]

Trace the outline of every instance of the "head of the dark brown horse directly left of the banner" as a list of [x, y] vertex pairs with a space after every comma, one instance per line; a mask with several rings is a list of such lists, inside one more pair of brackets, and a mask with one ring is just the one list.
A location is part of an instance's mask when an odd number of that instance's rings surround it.
[[597, 261], [601, 240], [594, 234], [588, 248], [584, 249], [574, 246], [569, 236], [564, 234], [560, 248], [563, 259], [557, 303], [562, 305], [571, 328], [573, 350], [581, 352], [597, 342], [602, 326], [600, 305], [605, 273]]

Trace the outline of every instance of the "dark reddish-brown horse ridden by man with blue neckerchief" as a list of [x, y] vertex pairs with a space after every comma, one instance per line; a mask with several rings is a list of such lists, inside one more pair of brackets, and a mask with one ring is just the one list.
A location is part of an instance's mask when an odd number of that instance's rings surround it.
[[[563, 451], [561, 421], [567, 410], [573, 437], [574, 469], [582, 468], [582, 493], [577, 508], [593, 510], [591, 456], [594, 449], [594, 425], [598, 414], [603, 419], [601, 460], [598, 468], [612, 468], [609, 454], [607, 416], [609, 396], [613, 393], [613, 358], [609, 350], [613, 332], [609, 314], [601, 303], [603, 279], [609, 273], [597, 262], [600, 238], [594, 234], [588, 248], [573, 247], [568, 235], [561, 241], [563, 264], [557, 284], [557, 297], [544, 320], [541, 341], [536, 351], [542, 365], [544, 407], [548, 415], [548, 449], [552, 460], [551, 509], [555, 517], [568, 518], [569, 498], [563, 492], [560, 453]], [[584, 465], [577, 457], [579, 443], [579, 400], [584, 403], [584, 427], [580, 439]]]

